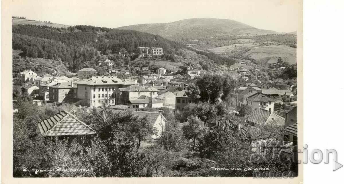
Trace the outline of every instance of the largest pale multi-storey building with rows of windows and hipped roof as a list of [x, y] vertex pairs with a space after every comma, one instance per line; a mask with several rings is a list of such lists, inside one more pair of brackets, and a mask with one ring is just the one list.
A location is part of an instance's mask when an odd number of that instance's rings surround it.
[[77, 98], [85, 106], [117, 105], [116, 90], [137, 84], [135, 81], [122, 81], [117, 76], [92, 76], [90, 79], [76, 82]]

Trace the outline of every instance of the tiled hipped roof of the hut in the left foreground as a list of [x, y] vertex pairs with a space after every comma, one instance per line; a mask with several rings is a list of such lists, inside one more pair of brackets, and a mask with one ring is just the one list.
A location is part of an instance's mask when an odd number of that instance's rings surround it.
[[37, 123], [44, 136], [92, 135], [96, 132], [67, 111], [61, 111]]

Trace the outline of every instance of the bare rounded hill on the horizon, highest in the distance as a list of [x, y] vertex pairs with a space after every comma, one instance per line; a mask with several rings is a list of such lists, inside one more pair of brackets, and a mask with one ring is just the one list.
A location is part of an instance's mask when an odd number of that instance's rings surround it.
[[229, 19], [195, 18], [170, 23], [137, 24], [116, 29], [135, 30], [158, 34], [164, 38], [209, 38], [228, 35], [279, 34], [276, 31], [261, 30]]

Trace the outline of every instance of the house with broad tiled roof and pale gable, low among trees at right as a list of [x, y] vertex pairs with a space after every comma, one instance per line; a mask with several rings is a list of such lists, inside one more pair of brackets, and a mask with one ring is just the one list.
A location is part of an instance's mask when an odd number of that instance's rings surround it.
[[257, 109], [250, 113], [246, 120], [251, 126], [264, 125], [284, 126], [284, 118], [265, 109]]

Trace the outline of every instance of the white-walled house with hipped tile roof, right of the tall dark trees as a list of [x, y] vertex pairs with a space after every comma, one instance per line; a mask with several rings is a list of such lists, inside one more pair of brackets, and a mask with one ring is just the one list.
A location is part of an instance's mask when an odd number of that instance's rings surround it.
[[[245, 96], [244, 96], [245, 97]], [[273, 105], [275, 100], [258, 92], [247, 97], [247, 104], [251, 106], [252, 110], [265, 109], [273, 112]]]

